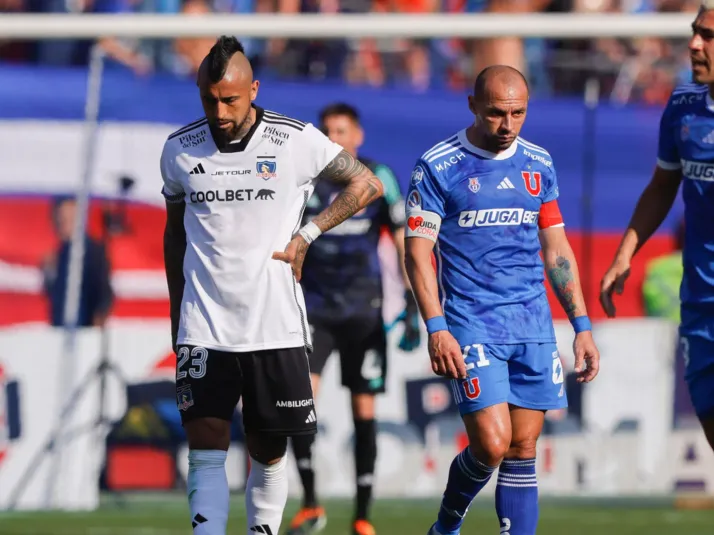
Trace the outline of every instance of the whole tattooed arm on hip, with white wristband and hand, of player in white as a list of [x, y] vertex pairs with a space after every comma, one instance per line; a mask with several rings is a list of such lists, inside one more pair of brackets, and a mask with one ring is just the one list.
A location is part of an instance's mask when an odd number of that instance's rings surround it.
[[344, 150], [327, 164], [318, 178], [330, 180], [345, 188], [335, 197], [330, 206], [300, 229], [284, 252], [273, 253], [273, 259], [290, 264], [297, 281], [302, 277], [302, 265], [310, 243], [323, 232], [355, 215], [384, 193], [382, 182]]

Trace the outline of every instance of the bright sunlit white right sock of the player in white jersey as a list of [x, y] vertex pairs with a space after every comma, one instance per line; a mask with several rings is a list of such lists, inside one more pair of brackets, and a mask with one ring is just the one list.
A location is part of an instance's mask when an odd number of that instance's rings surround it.
[[245, 490], [248, 533], [278, 535], [288, 501], [287, 455], [273, 465], [250, 459], [250, 474]]

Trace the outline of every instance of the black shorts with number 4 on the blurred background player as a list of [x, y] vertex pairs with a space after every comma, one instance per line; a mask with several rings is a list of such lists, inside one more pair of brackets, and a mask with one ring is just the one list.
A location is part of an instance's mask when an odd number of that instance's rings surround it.
[[381, 315], [340, 323], [313, 320], [310, 373], [320, 375], [330, 354], [340, 354], [342, 385], [353, 394], [379, 394], [387, 381], [387, 335]]

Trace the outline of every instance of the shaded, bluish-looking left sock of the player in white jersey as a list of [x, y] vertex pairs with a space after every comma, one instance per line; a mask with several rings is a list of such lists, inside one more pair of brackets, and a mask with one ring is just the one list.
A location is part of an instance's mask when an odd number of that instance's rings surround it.
[[226, 535], [229, 491], [226, 452], [188, 452], [188, 505], [194, 535]]

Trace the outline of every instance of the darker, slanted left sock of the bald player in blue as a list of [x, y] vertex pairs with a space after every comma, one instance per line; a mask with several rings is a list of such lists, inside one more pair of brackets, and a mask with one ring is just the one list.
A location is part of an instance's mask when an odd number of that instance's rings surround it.
[[496, 467], [486, 466], [476, 459], [468, 448], [459, 453], [451, 463], [449, 481], [441, 500], [436, 531], [443, 535], [459, 532], [466, 511], [476, 494], [486, 486]]

